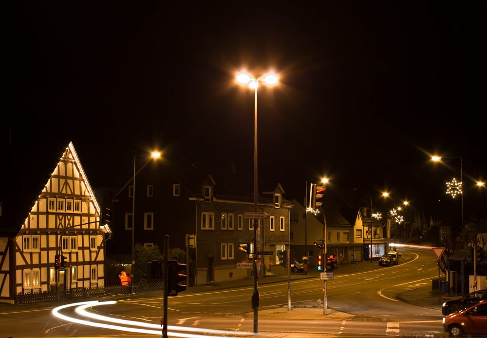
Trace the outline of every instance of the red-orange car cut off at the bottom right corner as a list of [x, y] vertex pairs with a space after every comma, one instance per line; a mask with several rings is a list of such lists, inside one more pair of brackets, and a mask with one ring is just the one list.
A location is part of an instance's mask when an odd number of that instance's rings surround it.
[[485, 337], [487, 332], [487, 300], [443, 317], [442, 324], [451, 337], [460, 337], [464, 334]]

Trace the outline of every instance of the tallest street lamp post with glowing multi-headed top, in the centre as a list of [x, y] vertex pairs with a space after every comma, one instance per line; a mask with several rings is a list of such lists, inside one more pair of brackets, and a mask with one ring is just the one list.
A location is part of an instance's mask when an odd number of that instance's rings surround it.
[[[241, 72], [236, 77], [237, 82], [241, 84], [248, 84], [249, 88], [254, 89], [254, 212], [257, 213], [257, 89], [259, 82], [264, 82], [268, 86], [277, 84], [278, 77], [274, 74], [267, 74], [258, 78], [254, 78], [246, 72]], [[254, 294], [252, 299], [254, 302], [254, 333], [258, 333], [259, 323], [259, 290], [257, 283], [257, 219], [254, 220]], [[265, 268], [265, 267], [264, 267]]]

